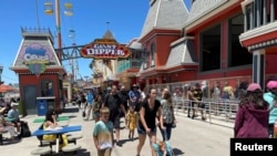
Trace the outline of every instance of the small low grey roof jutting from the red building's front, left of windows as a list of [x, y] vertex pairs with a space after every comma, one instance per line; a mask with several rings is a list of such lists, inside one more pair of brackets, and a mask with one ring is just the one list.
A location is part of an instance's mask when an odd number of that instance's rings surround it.
[[196, 65], [195, 50], [193, 40], [188, 38], [182, 38], [171, 44], [171, 53], [166, 62], [165, 67], [174, 67], [182, 64]]

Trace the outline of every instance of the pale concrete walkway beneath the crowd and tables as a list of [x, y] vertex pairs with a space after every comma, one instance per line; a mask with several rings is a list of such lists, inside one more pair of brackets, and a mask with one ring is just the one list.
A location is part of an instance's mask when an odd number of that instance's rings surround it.
[[[93, 121], [83, 121], [82, 113], [76, 106], [66, 106], [62, 116], [70, 116], [70, 125], [82, 125], [83, 138], [78, 141], [82, 146], [76, 156], [96, 156], [96, 150], [92, 141]], [[42, 117], [42, 116], [40, 116]], [[23, 121], [28, 121], [31, 131], [35, 131], [40, 124], [33, 123], [38, 115], [28, 115]], [[203, 122], [198, 118], [191, 119], [181, 113], [177, 114], [177, 127], [173, 129], [170, 141], [174, 153], [177, 156], [229, 156], [229, 138], [233, 136], [233, 125], [220, 126]], [[123, 125], [123, 124], [122, 124]], [[160, 132], [158, 138], [161, 139]], [[4, 134], [4, 136], [8, 136]], [[137, 136], [137, 134], [136, 134]], [[127, 129], [121, 131], [122, 147], [115, 146], [112, 156], [135, 156], [137, 139], [127, 139]], [[39, 141], [31, 136], [21, 139], [19, 143], [0, 145], [1, 156], [30, 156], [30, 152], [37, 148]], [[151, 156], [148, 141], [145, 142], [141, 156]]]

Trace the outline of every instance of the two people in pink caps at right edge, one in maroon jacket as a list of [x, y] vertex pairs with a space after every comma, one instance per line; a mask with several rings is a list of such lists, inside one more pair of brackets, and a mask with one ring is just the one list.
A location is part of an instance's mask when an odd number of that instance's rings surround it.
[[[269, 81], [266, 91], [252, 83], [240, 100], [236, 114], [234, 137], [276, 138], [274, 125], [277, 124], [277, 81]], [[277, 126], [277, 125], [276, 125]]]

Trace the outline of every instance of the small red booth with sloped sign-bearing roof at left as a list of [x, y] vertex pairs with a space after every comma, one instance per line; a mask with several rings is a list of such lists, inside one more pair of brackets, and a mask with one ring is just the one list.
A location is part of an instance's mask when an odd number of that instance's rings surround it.
[[42, 106], [39, 102], [62, 112], [65, 70], [54, 51], [50, 30], [22, 29], [21, 34], [23, 39], [10, 69], [19, 76], [23, 115], [45, 113], [38, 107]]

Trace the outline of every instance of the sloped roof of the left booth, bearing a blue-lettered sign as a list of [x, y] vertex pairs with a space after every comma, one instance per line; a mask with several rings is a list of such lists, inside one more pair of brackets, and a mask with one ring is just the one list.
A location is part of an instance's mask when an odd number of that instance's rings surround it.
[[55, 53], [48, 32], [24, 31], [17, 56], [10, 69], [14, 72], [30, 71], [37, 75], [47, 71], [65, 72]]

